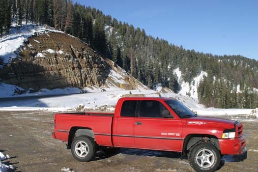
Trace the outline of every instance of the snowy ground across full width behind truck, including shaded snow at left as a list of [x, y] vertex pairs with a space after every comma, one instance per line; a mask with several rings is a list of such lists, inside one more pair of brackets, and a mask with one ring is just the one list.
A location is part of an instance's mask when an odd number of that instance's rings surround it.
[[[9, 97], [5, 101], [0, 101], [0, 111], [75, 111], [79, 107], [83, 110], [104, 110], [114, 111], [116, 102], [119, 98], [128, 96], [130, 93], [148, 97], [174, 97], [187, 106], [192, 111], [201, 116], [239, 116], [246, 118], [247, 121], [256, 121], [258, 118], [257, 109], [218, 109], [205, 108], [198, 104], [198, 101], [189, 96], [175, 94], [168, 88], [157, 87], [157, 90], [137, 89], [123, 90], [118, 87], [86, 87], [86, 93], [80, 93], [79, 88], [65, 89], [41, 89], [39, 92], [25, 93], [22, 95], [13, 94], [13, 89], [21, 89], [17, 86], [0, 84], [0, 97]], [[28, 97], [30, 96], [30, 97]], [[14, 99], [17, 97], [17, 99]], [[18, 98], [19, 97], [19, 98]], [[11, 98], [11, 99], [10, 99]]]

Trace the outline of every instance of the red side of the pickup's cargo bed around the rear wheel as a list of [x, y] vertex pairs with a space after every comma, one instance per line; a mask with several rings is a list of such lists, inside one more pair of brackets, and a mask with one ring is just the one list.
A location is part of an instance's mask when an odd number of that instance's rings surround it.
[[55, 137], [68, 141], [70, 131], [88, 129], [93, 131], [96, 143], [112, 146], [113, 113], [82, 112], [60, 113], [55, 115]]

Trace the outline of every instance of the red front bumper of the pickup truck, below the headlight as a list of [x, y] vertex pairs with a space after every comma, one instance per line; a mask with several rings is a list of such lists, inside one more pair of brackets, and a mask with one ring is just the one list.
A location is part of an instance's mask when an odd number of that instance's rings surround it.
[[223, 155], [237, 155], [245, 151], [246, 138], [219, 139], [220, 151]]

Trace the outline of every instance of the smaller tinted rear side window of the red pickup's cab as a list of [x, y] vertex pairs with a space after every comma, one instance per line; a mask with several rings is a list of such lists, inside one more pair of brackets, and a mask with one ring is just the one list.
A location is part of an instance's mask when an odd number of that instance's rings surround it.
[[126, 100], [123, 102], [120, 116], [135, 116], [137, 100]]

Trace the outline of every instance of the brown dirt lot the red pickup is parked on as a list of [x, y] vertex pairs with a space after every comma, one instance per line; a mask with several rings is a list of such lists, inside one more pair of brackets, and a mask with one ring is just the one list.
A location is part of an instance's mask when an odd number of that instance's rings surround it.
[[[52, 112], [0, 112], [0, 152], [11, 157], [2, 163], [16, 168], [9, 172], [194, 172], [180, 153], [138, 149], [99, 151], [93, 161], [78, 162], [52, 138], [53, 120]], [[243, 124], [247, 154], [224, 156], [217, 172], [258, 172], [258, 120]]]

